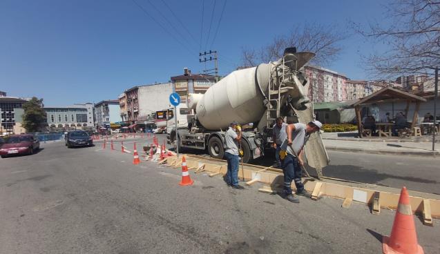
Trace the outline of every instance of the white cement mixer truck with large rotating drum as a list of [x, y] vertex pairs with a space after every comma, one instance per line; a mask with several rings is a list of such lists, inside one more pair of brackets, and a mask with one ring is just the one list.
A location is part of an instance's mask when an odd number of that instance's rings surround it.
[[[179, 146], [180, 150], [207, 150], [211, 157], [222, 159], [224, 133], [231, 121], [238, 121], [242, 125], [243, 162], [262, 157], [274, 142], [272, 126], [276, 117], [305, 123], [313, 119], [312, 103], [307, 98], [307, 79], [300, 71], [312, 57], [312, 52], [286, 48], [278, 61], [233, 71], [203, 95], [189, 94], [186, 105], [180, 104], [173, 117], [178, 119], [178, 130], [174, 128], [174, 121], [169, 121], [169, 144]], [[321, 146], [318, 157], [322, 162], [318, 164], [322, 168], [328, 161], [327, 153], [321, 137], [316, 139]]]

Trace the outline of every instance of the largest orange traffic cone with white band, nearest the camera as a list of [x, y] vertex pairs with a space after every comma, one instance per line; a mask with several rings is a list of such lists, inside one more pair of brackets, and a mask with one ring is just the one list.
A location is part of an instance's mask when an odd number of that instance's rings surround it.
[[406, 187], [401, 190], [391, 235], [384, 236], [382, 242], [382, 251], [385, 254], [423, 254], [423, 248], [417, 242], [410, 196]]

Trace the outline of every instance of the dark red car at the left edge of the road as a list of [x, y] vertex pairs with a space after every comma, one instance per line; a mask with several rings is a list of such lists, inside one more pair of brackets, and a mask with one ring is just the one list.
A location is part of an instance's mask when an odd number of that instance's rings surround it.
[[12, 135], [6, 138], [3, 146], [0, 146], [0, 155], [2, 158], [8, 157], [8, 155], [32, 155], [39, 148], [40, 142], [34, 135]]

